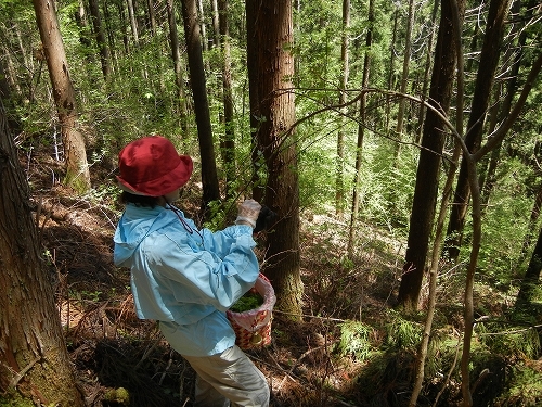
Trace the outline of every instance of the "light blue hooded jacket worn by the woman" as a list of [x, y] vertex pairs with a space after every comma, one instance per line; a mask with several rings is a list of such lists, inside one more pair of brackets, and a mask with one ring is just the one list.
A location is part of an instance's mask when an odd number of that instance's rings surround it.
[[131, 270], [138, 317], [164, 322], [176, 351], [206, 356], [233, 346], [225, 310], [259, 275], [249, 226], [212, 233], [177, 208], [128, 204], [114, 242], [115, 265]]

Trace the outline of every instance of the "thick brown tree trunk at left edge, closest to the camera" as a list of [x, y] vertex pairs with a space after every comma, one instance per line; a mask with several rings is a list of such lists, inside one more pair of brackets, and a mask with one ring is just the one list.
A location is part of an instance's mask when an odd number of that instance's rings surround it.
[[0, 205], [2, 399], [10, 406], [83, 407], [1, 101]]

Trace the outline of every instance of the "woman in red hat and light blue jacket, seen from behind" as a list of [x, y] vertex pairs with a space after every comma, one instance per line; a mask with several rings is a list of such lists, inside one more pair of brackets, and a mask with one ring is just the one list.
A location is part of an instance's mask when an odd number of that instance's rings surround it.
[[131, 270], [138, 317], [159, 321], [197, 373], [194, 406], [269, 406], [266, 378], [235, 345], [225, 316], [259, 275], [253, 229], [260, 204], [241, 203], [235, 225], [224, 230], [198, 230], [172, 205], [193, 164], [169, 140], [136, 140], [120, 151], [118, 165], [126, 208], [114, 260]]

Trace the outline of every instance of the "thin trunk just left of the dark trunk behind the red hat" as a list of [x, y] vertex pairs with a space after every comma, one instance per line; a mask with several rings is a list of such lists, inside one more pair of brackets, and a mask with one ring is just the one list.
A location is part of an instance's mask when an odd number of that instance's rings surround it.
[[189, 133], [189, 113], [186, 106], [186, 94], [184, 92], [183, 66], [181, 61], [181, 51], [179, 48], [179, 36], [177, 34], [177, 18], [175, 16], [173, 0], [166, 1], [169, 25], [169, 40], [171, 42], [171, 58], [173, 60], [175, 85], [177, 88], [177, 103], [179, 106], [179, 116], [181, 120], [182, 132]]

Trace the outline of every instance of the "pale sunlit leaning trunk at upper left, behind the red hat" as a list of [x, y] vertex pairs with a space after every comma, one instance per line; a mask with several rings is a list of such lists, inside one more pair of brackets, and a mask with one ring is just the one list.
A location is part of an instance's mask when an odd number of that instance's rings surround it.
[[59, 112], [66, 176], [64, 182], [79, 193], [90, 189], [85, 138], [77, 129], [75, 89], [69, 77], [66, 53], [53, 3], [33, 0], [43, 54], [49, 68], [54, 101]]

